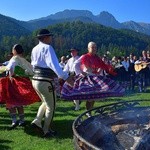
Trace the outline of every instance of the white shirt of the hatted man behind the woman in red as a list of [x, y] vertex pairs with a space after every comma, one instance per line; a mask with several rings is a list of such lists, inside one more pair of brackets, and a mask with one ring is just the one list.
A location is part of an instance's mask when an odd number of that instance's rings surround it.
[[79, 59], [79, 56], [75, 56], [75, 57], [71, 57], [68, 61], [67, 64], [64, 67], [65, 72], [69, 73], [69, 72], [75, 72], [75, 68], [74, 68], [74, 62], [76, 60]]

